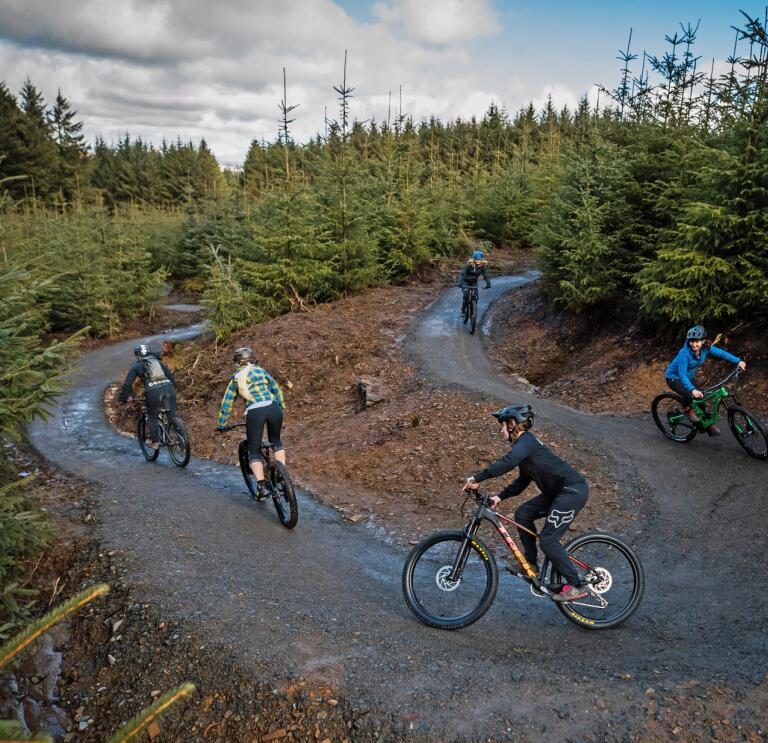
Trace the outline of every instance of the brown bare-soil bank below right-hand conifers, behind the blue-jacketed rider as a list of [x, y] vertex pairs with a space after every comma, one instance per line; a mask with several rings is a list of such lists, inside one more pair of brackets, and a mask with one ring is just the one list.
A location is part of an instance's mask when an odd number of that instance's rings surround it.
[[[556, 311], [538, 284], [504, 295], [490, 318], [487, 351], [501, 369], [525, 378], [542, 396], [593, 413], [649, 413], [653, 398], [667, 389], [664, 371], [682, 345], [648, 335], [620, 316], [587, 320]], [[767, 340], [755, 327], [740, 327], [720, 342], [746, 359], [748, 373], [735, 389], [762, 415], [768, 415]], [[711, 359], [697, 382], [714, 384], [731, 369]]]

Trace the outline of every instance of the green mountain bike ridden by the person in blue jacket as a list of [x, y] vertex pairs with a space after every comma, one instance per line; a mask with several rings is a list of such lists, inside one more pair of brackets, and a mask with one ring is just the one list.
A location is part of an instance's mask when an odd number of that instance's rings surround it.
[[682, 398], [674, 392], [663, 392], [651, 403], [651, 415], [659, 430], [672, 441], [685, 444], [697, 433], [705, 431], [720, 417], [722, 405], [728, 415], [728, 427], [750, 457], [768, 459], [768, 436], [754, 413], [747, 410], [736, 394], [726, 387], [741, 374], [734, 369], [725, 379], [702, 390], [704, 397], [694, 399], [690, 410], [699, 419], [691, 420]]

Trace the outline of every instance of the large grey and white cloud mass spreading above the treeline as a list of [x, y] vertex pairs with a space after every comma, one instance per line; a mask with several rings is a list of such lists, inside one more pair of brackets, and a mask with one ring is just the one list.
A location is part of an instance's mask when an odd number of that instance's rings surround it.
[[[0, 70], [11, 90], [29, 77], [49, 102], [61, 88], [91, 142], [126, 131], [155, 143], [204, 137], [224, 163], [275, 138], [283, 67], [288, 101], [300, 104], [294, 138], [321, 131], [324, 107], [337, 112], [345, 49], [360, 119], [385, 119], [389, 91], [394, 112], [401, 85], [417, 121], [481, 116], [492, 100], [514, 111], [540, 92], [533, 74], [473, 61], [463, 41], [497, 28], [486, 2], [377, 9], [381, 20], [363, 23], [333, 0], [3, 0]], [[408, 34], [395, 33], [400, 23]]]

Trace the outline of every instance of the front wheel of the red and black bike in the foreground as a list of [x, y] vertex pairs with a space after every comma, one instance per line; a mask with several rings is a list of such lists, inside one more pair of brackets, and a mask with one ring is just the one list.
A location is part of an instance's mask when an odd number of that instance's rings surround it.
[[[455, 580], [454, 564], [463, 563]], [[429, 627], [461, 629], [488, 611], [499, 588], [496, 560], [478, 537], [439, 531], [417, 544], [403, 566], [403, 595]]]

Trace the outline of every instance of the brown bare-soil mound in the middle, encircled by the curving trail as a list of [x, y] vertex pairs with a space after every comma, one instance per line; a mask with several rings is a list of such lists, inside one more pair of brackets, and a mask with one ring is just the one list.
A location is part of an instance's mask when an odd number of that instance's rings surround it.
[[[515, 257], [503, 263], [506, 272], [522, 270], [524, 262]], [[170, 348], [165, 358], [177, 376], [195, 454], [237, 464], [240, 436], [213, 429], [232, 351], [250, 346], [285, 394], [283, 441], [300, 485], [352, 521], [382, 527], [398, 541], [462, 522], [464, 478], [505, 451], [489, 414], [506, 402], [482, 402], [425, 383], [402, 349], [414, 317], [452, 278], [451, 272], [429, 283], [372, 289], [261, 323], [226, 344], [202, 339]], [[372, 380], [383, 397], [366, 409], [355, 390], [361, 378]], [[111, 409], [118, 425], [131, 431], [128, 416]], [[242, 420], [240, 410], [233, 420]], [[580, 528], [609, 528], [611, 514], [633, 518], [619, 507], [617, 486], [601, 473], [599, 457], [577, 451], [554, 432], [541, 437], [588, 473], [598, 496]]]

